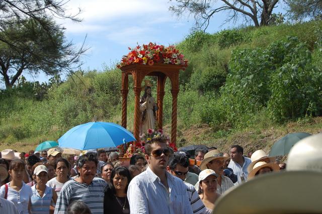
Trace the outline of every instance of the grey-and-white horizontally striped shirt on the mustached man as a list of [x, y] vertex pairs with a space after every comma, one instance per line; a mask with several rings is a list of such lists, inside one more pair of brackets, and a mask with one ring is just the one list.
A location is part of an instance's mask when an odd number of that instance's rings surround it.
[[54, 214], [66, 213], [69, 204], [75, 200], [82, 200], [91, 209], [92, 214], [104, 213], [104, 192], [107, 183], [102, 178], [94, 178], [90, 185], [67, 181], [58, 196]]

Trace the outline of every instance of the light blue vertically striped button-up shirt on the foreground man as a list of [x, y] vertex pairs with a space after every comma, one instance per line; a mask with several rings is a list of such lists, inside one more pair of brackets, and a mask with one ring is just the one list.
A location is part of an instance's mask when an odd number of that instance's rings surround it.
[[133, 178], [127, 190], [131, 213], [193, 214], [186, 185], [180, 178], [165, 173], [170, 195], [149, 167]]

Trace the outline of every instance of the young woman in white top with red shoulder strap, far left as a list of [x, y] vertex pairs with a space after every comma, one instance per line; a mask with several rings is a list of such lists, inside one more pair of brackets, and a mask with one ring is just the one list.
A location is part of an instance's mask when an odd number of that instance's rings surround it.
[[12, 181], [0, 188], [0, 197], [12, 201], [18, 209], [19, 214], [31, 214], [30, 197], [32, 190], [23, 182], [25, 175], [25, 163], [16, 159], [11, 161], [9, 174]]

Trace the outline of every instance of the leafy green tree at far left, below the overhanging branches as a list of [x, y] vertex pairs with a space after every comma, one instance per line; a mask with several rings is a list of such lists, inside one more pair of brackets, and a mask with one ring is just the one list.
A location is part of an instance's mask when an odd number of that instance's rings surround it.
[[[55, 26], [50, 20], [41, 22]], [[79, 58], [73, 45], [64, 42], [59, 27], [47, 31], [33, 19], [7, 21], [0, 37], [7, 41], [0, 41], [0, 75], [7, 89], [13, 87], [24, 71], [31, 75], [44, 72], [53, 76], [70, 69], [70, 63]]]

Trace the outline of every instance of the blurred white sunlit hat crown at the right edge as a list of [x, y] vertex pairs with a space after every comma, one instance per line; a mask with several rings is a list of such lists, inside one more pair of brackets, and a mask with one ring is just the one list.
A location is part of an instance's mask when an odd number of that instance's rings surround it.
[[292, 147], [287, 157], [286, 170], [322, 172], [322, 133], [305, 137]]

